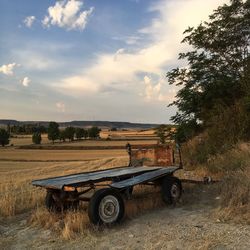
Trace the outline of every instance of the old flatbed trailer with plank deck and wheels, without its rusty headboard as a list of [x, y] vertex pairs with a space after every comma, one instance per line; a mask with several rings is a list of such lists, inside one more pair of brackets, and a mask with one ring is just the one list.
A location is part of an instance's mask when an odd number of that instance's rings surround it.
[[88, 215], [93, 224], [110, 225], [122, 220], [124, 202], [136, 185], [161, 186], [163, 201], [176, 203], [182, 194], [181, 181], [173, 176], [178, 169], [176, 166], [116, 167], [33, 180], [32, 185], [47, 189], [45, 204], [50, 211], [77, 209], [79, 202], [85, 201], [89, 202]]

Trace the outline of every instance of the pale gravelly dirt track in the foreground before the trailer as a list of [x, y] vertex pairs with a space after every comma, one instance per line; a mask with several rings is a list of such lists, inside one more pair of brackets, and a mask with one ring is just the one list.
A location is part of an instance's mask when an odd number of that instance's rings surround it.
[[119, 226], [92, 229], [74, 240], [29, 225], [28, 213], [1, 220], [0, 249], [250, 249], [249, 225], [215, 216], [220, 199], [216, 187], [185, 190], [177, 207], [139, 213]]

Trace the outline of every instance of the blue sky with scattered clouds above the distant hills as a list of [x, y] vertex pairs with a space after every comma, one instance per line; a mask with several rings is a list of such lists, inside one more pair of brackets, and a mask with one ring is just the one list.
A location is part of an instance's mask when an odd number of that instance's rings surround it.
[[169, 123], [183, 31], [227, 0], [0, 0], [0, 119]]

